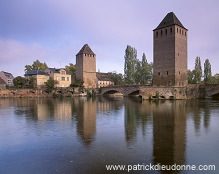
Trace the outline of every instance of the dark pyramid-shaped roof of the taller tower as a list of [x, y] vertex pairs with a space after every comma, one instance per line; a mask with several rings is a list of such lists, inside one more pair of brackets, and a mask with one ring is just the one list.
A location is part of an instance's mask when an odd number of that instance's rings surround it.
[[[165, 18], [161, 21], [161, 23], [154, 30], [161, 29], [164, 27], [168, 27], [171, 25], [178, 25], [184, 29], [186, 29], [183, 24], [179, 21], [176, 15], [173, 12], [168, 13]], [[186, 29], [187, 30], [187, 29]]]

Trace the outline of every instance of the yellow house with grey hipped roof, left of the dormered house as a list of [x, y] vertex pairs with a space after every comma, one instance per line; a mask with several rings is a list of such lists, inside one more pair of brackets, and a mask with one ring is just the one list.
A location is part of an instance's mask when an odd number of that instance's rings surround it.
[[49, 80], [49, 74], [45, 73], [44, 71], [40, 69], [32, 70], [24, 74], [24, 76], [27, 79], [35, 78], [37, 87], [45, 86], [45, 82]]

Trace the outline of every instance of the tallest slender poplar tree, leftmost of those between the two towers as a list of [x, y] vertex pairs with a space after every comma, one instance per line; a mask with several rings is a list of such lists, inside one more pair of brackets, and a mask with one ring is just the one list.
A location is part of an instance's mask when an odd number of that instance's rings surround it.
[[125, 50], [125, 64], [124, 64], [124, 79], [125, 84], [135, 83], [135, 66], [137, 62], [137, 50], [127, 45]]

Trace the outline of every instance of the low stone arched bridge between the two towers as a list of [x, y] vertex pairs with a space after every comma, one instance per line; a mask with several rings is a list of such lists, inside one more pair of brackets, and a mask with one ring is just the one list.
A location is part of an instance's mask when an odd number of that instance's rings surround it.
[[100, 94], [115, 94], [122, 93], [123, 96], [129, 95], [139, 95], [139, 90], [141, 87], [146, 85], [122, 85], [122, 86], [106, 86], [100, 88]]

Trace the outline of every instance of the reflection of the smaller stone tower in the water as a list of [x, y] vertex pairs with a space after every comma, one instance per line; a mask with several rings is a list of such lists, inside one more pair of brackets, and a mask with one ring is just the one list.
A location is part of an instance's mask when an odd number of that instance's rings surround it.
[[89, 145], [96, 134], [96, 102], [83, 101], [77, 113], [77, 131], [84, 143]]

